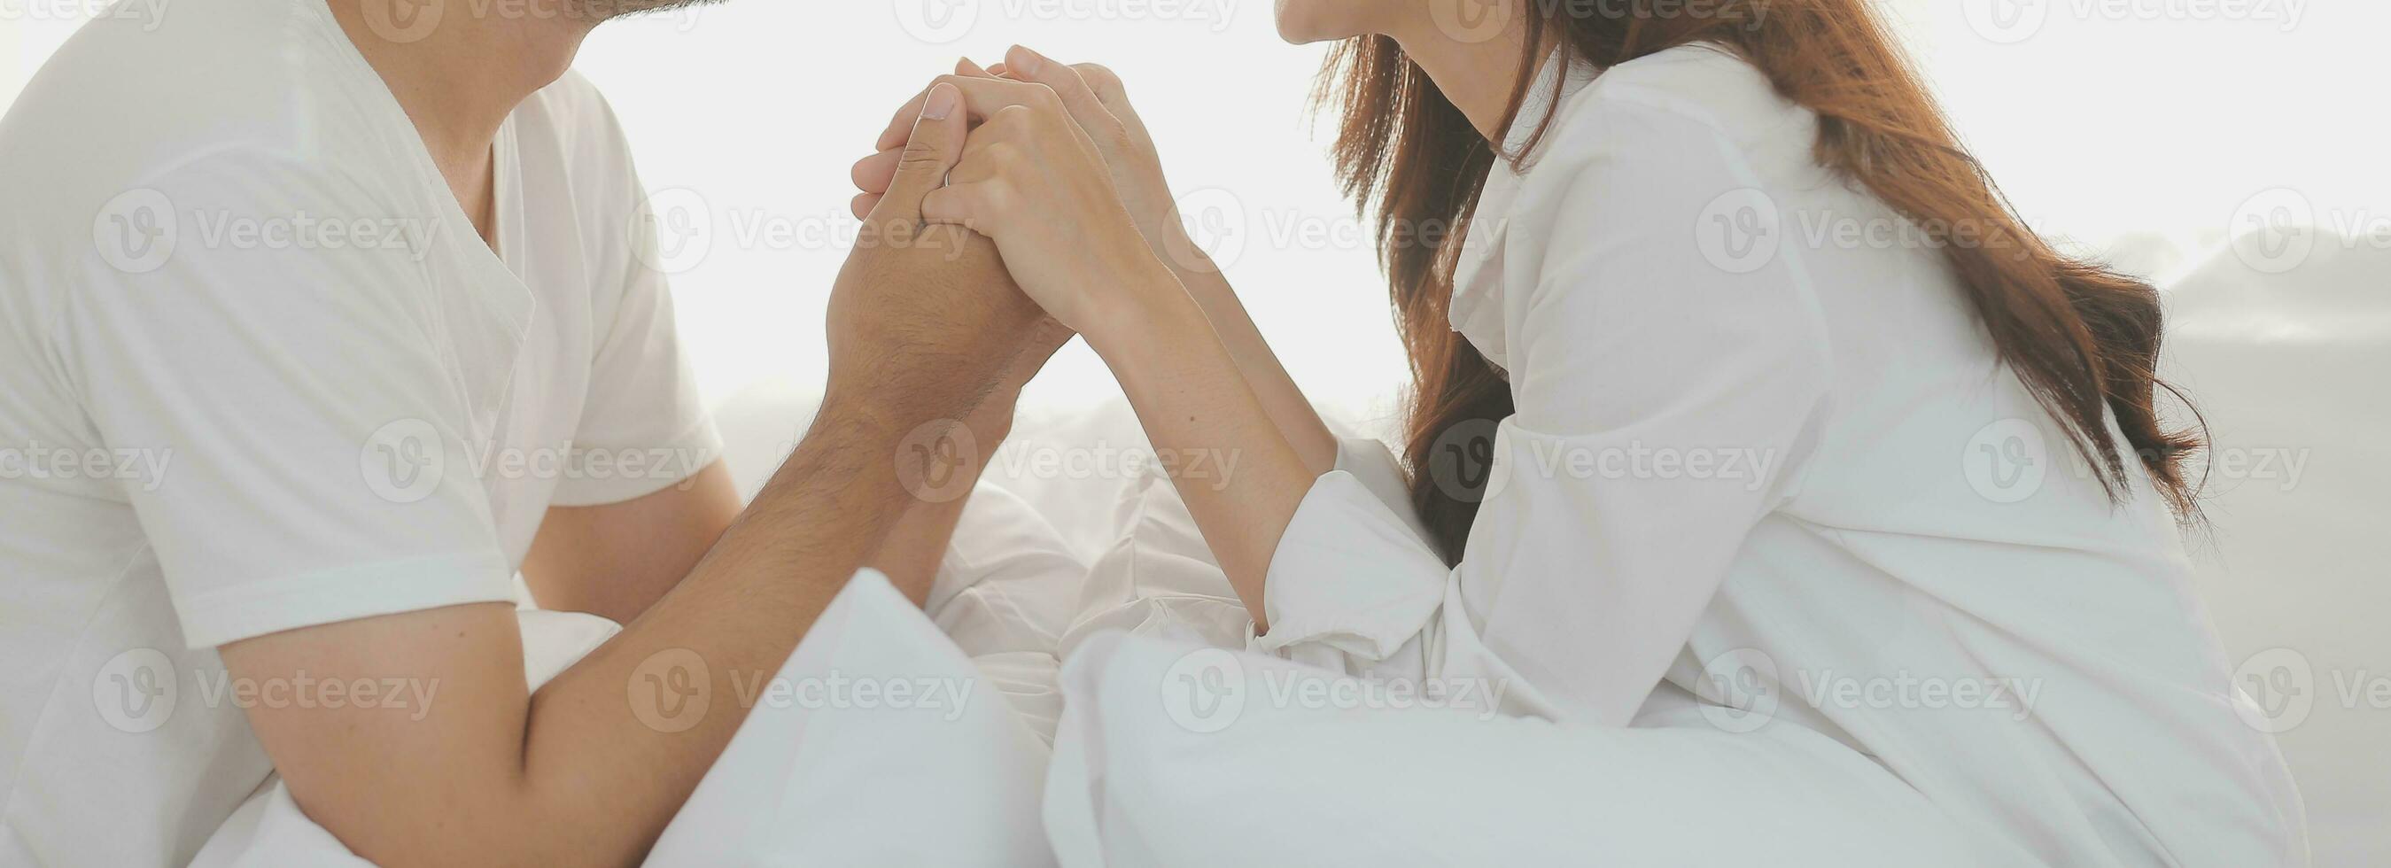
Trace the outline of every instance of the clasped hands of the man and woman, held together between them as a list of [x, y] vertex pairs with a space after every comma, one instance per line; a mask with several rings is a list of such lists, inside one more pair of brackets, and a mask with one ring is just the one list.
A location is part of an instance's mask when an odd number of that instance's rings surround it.
[[[854, 167], [863, 218], [830, 304], [832, 392], [899, 387], [916, 416], [1002, 438], [1011, 395], [1074, 332], [1114, 340], [1212, 263], [1179, 225], [1119, 77], [1026, 48], [959, 62]], [[892, 383], [904, 380], [904, 383]], [[997, 397], [1002, 409], [980, 404]], [[930, 418], [923, 416], [923, 418]]]

